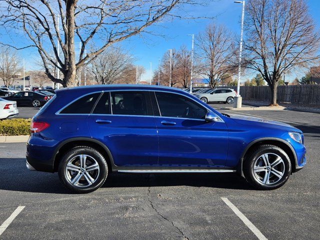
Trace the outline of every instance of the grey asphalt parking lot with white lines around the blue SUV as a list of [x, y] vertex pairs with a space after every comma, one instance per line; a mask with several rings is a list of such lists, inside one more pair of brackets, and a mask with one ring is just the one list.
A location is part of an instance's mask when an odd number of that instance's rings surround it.
[[0, 224], [25, 206], [4, 230], [1, 225], [0, 238], [319, 239], [320, 114], [222, 112], [300, 128], [307, 165], [272, 191], [254, 190], [235, 173], [114, 173], [97, 191], [76, 195], [57, 174], [26, 169], [25, 143], [0, 143]]

